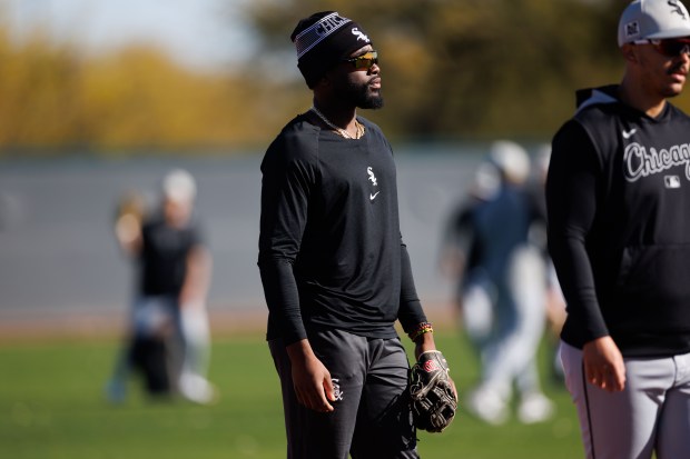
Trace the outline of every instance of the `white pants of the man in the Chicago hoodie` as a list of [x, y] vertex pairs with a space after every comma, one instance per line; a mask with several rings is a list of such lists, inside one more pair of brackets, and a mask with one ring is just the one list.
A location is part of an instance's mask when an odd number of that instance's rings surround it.
[[561, 342], [561, 360], [588, 459], [690, 458], [690, 353], [624, 359], [621, 392], [585, 381], [580, 349]]

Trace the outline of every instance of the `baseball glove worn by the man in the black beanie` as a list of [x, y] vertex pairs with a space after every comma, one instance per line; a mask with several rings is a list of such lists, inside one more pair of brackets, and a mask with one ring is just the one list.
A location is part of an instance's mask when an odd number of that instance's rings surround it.
[[441, 432], [448, 427], [455, 417], [457, 398], [443, 353], [434, 350], [420, 356], [410, 372], [410, 396], [417, 429]]

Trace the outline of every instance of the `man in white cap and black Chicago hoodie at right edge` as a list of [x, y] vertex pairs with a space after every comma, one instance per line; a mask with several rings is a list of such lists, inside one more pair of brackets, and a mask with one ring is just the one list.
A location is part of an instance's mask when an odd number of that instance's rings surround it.
[[638, 0], [618, 84], [576, 92], [552, 141], [549, 250], [568, 303], [565, 383], [584, 452], [690, 457], [690, 14]]

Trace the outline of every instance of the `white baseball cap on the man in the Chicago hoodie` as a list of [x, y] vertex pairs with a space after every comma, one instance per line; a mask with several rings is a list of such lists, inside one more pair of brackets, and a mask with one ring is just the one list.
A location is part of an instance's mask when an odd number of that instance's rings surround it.
[[618, 46], [635, 40], [690, 37], [690, 14], [680, 0], [635, 0], [618, 23]]

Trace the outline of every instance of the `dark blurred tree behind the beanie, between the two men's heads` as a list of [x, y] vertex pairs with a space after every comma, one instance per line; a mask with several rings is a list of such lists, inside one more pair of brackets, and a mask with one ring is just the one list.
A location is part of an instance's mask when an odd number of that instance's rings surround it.
[[[386, 103], [368, 113], [405, 137], [550, 137], [574, 90], [617, 82], [623, 0], [255, 0], [269, 56], [294, 51], [298, 19], [336, 10], [379, 51]], [[295, 73], [288, 73], [293, 76]], [[300, 92], [299, 97], [304, 97]]]

